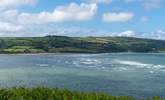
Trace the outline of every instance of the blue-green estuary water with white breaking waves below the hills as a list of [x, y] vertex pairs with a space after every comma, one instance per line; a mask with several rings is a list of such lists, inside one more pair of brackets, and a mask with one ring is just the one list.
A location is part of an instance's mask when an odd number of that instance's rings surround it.
[[165, 54], [2, 54], [0, 87], [16, 86], [165, 97]]

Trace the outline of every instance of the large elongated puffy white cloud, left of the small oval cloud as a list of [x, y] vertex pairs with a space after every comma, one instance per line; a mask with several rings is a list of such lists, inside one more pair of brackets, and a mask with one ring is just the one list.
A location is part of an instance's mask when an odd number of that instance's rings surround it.
[[21, 13], [18, 22], [21, 24], [43, 24], [64, 21], [84, 21], [92, 19], [97, 12], [96, 4], [76, 4], [58, 6], [53, 12], [40, 12], [38, 14]]

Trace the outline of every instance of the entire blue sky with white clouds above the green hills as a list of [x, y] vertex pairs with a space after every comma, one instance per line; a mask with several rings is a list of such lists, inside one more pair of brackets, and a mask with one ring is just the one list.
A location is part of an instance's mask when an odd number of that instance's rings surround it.
[[0, 37], [165, 40], [165, 0], [0, 0]]

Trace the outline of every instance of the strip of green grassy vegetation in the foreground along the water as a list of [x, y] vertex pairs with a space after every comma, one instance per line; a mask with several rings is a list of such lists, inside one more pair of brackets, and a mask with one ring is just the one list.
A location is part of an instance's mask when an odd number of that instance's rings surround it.
[[[0, 100], [135, 100], [131, 96], [110, 96], [107, 94], [84, 93], [52, 88], [0, 89]], [[142, 100], [165, 100], [153, 97]]]

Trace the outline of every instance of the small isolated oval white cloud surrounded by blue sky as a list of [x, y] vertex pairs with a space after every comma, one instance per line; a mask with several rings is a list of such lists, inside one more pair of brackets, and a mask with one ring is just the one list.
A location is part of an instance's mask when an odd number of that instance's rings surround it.
[[119, 12], [119, 13], [105, 13], [103, 14], [103, 21], [105, 22], [127, 22], [134, 17], [131, 12]]

